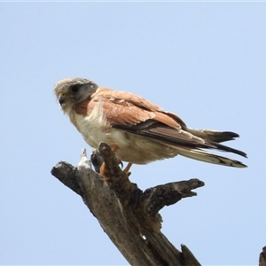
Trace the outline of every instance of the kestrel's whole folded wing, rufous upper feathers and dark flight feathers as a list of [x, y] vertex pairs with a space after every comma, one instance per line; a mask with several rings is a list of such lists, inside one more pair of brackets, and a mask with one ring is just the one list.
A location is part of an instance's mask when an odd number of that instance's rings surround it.
[[98, 88], [87, 100], [76, 106], [76, 113], [90, 115], [93, 108], [100, 104], [106, 122], [115, 129], [153, 138], [173, 146], [190, 148], [213, 148], [238, 153], [231, 149], [186, 131], [186, 125], [176, 114], [164, 112], [159, 106], [135, 94]]

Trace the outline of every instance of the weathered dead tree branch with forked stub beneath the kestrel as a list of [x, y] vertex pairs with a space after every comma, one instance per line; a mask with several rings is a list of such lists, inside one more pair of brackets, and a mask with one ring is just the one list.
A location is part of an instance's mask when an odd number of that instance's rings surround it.
[[161, 233], [162, 207], [196, 196], [199, 179], [161, 184], [141, 191], [119, 167], [110, 147], [101, 143], [92, 162], [105, 162], [105, 180], [93, 171], [85, 150], [77, 167], [60, 161], [51, 174], [82, 197], [90, 212], [131, 265], [200, 265], [187, 246], [176, 249]]

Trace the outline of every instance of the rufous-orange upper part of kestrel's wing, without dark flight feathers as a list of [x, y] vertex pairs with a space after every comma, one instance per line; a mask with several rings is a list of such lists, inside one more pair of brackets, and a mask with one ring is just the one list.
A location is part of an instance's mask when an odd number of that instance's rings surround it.
[[159, 106], [155, 106], [145, 98], [135, 94], [98, 88], [90, 98], [76, 106], [76, 113], [89, 115], [93, 108], [101, 104], [106, 121], [111, 125], [132, 126], [143, 121], [161, 121], [170, 128], [181, 129], [185, 126], [177, 115], [165, 113]]

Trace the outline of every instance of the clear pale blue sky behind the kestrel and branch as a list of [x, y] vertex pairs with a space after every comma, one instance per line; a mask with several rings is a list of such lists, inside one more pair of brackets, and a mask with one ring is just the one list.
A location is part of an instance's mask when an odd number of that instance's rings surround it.
[[162, 231], [204, 265], [258, 264], [266, 245], [266, 3], [1, 3], [1, 264], [127, 264], [82, 199], [51, 176], [88, 147], [53, 85], [87, 77], [188, 126], [238, 132], [246, 169], [177, 157], [134, 166], [145, 190], [198, 177]]

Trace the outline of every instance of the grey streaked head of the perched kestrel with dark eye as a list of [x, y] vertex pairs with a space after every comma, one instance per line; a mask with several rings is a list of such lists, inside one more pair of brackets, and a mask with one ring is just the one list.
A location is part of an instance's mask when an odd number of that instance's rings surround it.
[[89, 98], [98, 85], [83, 78], [68, 78], [57, 82], [54, 93], [64, 113], [69, 113], [75, 105]]

